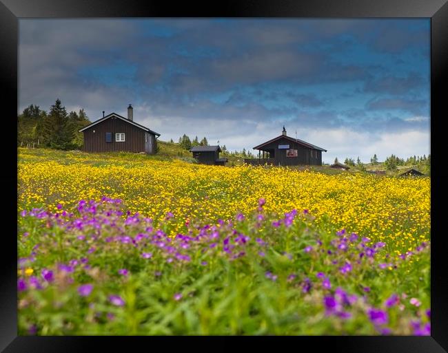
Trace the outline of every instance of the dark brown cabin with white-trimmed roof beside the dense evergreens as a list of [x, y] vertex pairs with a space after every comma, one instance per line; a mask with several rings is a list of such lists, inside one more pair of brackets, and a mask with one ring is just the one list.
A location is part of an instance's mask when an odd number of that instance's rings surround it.
[[[104, 114], [104, 112], [103, 112]], [[128, 151], [155, 154], [157, 151], [156, 133], [134, 122], [132, 106], [128, 107], [128, 118], [111, 113], [83, 127], [83, 151], [111, 152]]]

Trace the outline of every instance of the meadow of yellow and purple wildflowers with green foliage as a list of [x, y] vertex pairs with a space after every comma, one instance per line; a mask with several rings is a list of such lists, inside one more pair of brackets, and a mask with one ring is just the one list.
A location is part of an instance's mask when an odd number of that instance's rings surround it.
[[19, 334], [429, 334], [430, 180], [19, 149]]

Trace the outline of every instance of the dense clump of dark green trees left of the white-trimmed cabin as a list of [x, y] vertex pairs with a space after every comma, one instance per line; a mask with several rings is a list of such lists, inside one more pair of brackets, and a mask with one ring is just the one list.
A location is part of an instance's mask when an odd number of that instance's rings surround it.
[[17, 145], [81, 149], [83, 133], [78, 131], [89, 124], [84, 109], [68, 113], [59, 98], [48, 112], [39, 105], [29, 105], [17, 116]]

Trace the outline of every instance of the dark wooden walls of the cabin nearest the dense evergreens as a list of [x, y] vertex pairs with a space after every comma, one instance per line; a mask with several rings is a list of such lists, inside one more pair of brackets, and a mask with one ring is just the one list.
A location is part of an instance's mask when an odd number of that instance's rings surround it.
[[[112, 133], [112, 142], [105, 142], [106, 132]], [[115, 133], [120, 132], [125, 133], [125, 142], [116, 142]], [[114, 116], [85, 129], [83, 134], [85, 152], [145, 152], [145, 131]]]

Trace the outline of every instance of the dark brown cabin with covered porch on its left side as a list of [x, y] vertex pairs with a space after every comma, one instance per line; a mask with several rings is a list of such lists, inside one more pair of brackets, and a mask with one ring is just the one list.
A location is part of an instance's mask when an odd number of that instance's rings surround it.
[[281, 136], [264, 142], [254, 149], [258, 149], [258, 158], [246, 158], [245, 163], [279, 166], [322, 165], [322, 152], [327, 152], [326, 149], [314, 146], [309, 142], [287, 136], [285, 127], [283, 127]]

